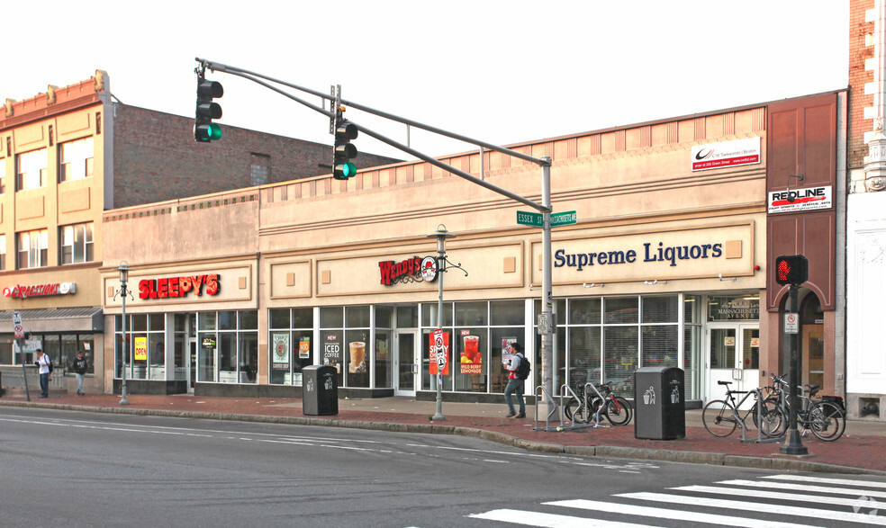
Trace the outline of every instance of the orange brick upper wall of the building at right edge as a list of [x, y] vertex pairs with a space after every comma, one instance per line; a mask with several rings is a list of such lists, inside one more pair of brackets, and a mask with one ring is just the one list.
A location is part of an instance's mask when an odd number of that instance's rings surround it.
[[864, 22], [864, 12], [873, 9], [874, 0], [852, 0], [849, 3], [849, 168], [861, 167], [868, 154], [864, 132], [873, 130], [873, 121], [864, 119], [864, 107], [873, 104], [873, 96], [864, 94], [864, 84], [873, 81], [873, 72], [864, 69], [864, 59], [873, 57], [873, 46], [865, 43], [873, 33], [873, 22]]

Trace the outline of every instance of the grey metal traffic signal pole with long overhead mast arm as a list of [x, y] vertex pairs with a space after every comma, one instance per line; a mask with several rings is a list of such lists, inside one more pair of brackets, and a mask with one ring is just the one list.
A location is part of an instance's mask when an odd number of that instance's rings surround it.
[[[292, 83], [287, 83], [283, 80], [276, 79], [270, 76], [265, 76], [263, 74], [259, 74], [257, 72], [249, 71], [240, 67], [233, 67], [229, 65], [225, 65], [218, 62], [212, 62], [211, 60], [205, 58], [194, 58], [199, 64], [198, 70], [205, 71], [207, 69], [212, 70], [213, 72], [221, 72], [226, 73], [232, 76], [240, 76], [245, 79], [249, 79], [250, 81], [262, 85], [269, 90], [276, 92], [277, 94], [281, 94], [296, 103], [301, 103], [304, 106], [312, 109], [314, 112], [320, 112], [321, 114], [330, 118], [330, 122], [335, 122], [336, 112], [339, 108], [338, 105], [345, 105], [351, 108], [356, 108], [357, 110], [372, 113], [384, 119], [390, 121], [400, 122], [402, 124], [407, 125], [408, 127], [416, 127], [421, 130], [427, 130], [429, 132], [433, 132], [435, 134], [439, 134], [441, 136], [446, 136], [451, 139], [457, 139], [459, 141], [463, 141], [465, 143], [470, 143], [476, 145], [480, 148], [486, 148], [489, 150], [494, 150], [495, 152], [499, 152], [506, 156], [517, 157], [529, 163], [536, 164], [542, 168], [542, 178], [541, 178], [541, 203], [536, 201], [531, 201], [528, 198], [520, 196], [514, 192], [508, 191], [507, 189], [503, 189], [497, 185], [493, 185], [493, 183], [489, 183], [484, 181], [483, 179], [477, 178], [474, 175], [467, 174], [466, 172], [457, 169], [454, 166], [448, 166], [447, 164], [430, 157], [426, 154], [419, 152], [407, 145], [403, 145], [393, 139], [387, 138], [382, 134], [375, 132], [374, 130], [367, 129], [365, 126], [360, 125], [354, 121], [348, 120], [348, 123], [354, 125], [357, 130], [366, 134], [367, 136], [371, 136], [383, 143], [390, 145], [393, 148], [397, 148], [402, 152], [410, 154], [411, 156], [417, 157], [422, 161], [429, 163], [432, 166], [437, 166], [450, 174], [457, 175], [461, 178], [466, 179], [469, 182], [476, 183], [481, 187], [489, 189], [490, 191], [497, 192], [502, 194], [502, 196], [511, 198], [511, 200], [519, 201], [529, 207], [538, 210], [543, 216], [542, 218], [542, 287], [541, 287], [541, 307], [542, 313], [540, 314], [540, 318], [544, 322], [543, 325], [544, 332], [542, 333], [541, 338], [541, 382], [544, 388], [547, 390], [547, 394], [554, 394], [553, 389], [553, 374], [554, 374], [554, 353], [553, 353], [553, 345], [554, 345], [554, 332], [555, 328], [552, 324], [553, 321], [553, 305], [554, 299], [553, 294], [551, 292], [552, 288], [552, 279], [551, 279], [551, 158], [550, 157], [532, 157], [522, 152], [517, 152], [515, 150], [511, 150], [510, 148], [503, 148], [497, 145], [493, 145], [491, 143], [486, 143], [479, 139], [472, 139], [466, 136], [462, 136], [455, 132], [450, 132], [448, 130], [438, 129], [437, 127], [433, 127], [430, 125], [426, 125], [420, 123], [418, 121], [412, 121], [410, 119], [402, 118], [400, 116], [393, 115], [392, 113], [383, 112], [381, 110], [376, 110], [374, 108], [368, 107], [366, 105], [355, 103], [353, 101], [347, 101], [342, 99], [340, 93], [336, 93], [333, 89], [333, 94], [324, 94], [317, 90], [312, 90], [311, 88], [306, 88], [300, 85], [294, 85]], [[316, 97], [320, 97], [324, 104], [326, 101], [330, 102], [330, 110], [326, 110], [323, 107], [317, 106], [312, 103], [308, 103], [304, 101], [302, 98], [295, 96], [294, 94], [290, 94], [279, 86], [286, 86], [288, 88], [292, 88], [294, 90], [298, 90], [305, 94], [311, 94]], [[540, 325], [541, 326], [541, 325]], [[556, 402], [553, 403], [554, 407], [548, 408], [548, 404], [552, 402], [543, 401], [536, 402], [539, 412], [547, 413], [547, 416], [553, 415], [556, 410]], [[544, 408], [540, 408], [543, 406]]]

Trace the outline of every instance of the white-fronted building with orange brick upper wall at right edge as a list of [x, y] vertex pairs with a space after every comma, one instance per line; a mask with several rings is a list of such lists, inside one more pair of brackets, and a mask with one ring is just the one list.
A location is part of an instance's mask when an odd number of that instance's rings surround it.
[[846, 219], [846, 406], [886, 420], [886, 2], [850, 3]]

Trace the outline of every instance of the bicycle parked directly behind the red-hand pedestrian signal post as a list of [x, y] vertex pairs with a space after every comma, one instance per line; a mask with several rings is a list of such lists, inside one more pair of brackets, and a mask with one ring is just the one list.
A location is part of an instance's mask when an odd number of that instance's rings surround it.
[[[785, 377], [772, 375], [773, 387], [770, 388], [772, 393], [764, 400], [764, 406], [771, 408], [773, 413], [771, 415], [773, 427], [767, 436], [781, 436], [788, 428], [791, 412], [788, 391], [791, 389], [791, 384], [785, 380]], [[797, 388], [800, 391], [797, 394], [800, 400], [797, 425], [803, 428], [802, 436], [811, 431], [818, 440], [834, 442], [845, 432], [845, 409], [832, 400], [814, 399], [820, 387], [818, 383], [812, 383]]]

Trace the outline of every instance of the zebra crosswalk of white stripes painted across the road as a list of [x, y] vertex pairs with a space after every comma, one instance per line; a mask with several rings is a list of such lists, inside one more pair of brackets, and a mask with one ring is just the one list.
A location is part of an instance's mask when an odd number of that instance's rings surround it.
[[778, 474], [680, 486], [663, 493], [619, 493], [611, 501], [550, 501], [534, 508], [545, 510], [538, 512], [496, 509], [469, 516], [527, 526], [592, 528], [673, 526], [675, 522], [777, 528], [886, 526], [884, 496], [886, 482]]

